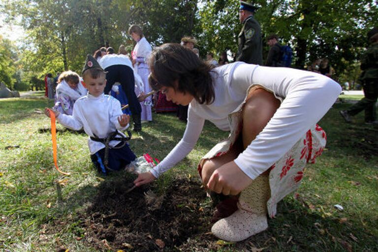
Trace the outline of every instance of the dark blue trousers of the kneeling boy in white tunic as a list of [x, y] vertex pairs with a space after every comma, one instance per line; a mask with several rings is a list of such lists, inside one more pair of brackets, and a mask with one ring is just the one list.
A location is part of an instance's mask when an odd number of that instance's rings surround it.
[[[119, 143], [116, 147], [121, 146], [123, 143]], [[135, 160], [135, 154], [130, 150], [126, 143], [124, 147], [120, 149], [110, 149], [108, 154], [108, 167], [112, 170], [119, 171], [123, 169], [131, 161]], [[95, 164], [98, 172], [104, 174], [107, 173], [105, 168], [105, 148], [99, 150], [95, 154], [91, 155], [92, 162]]]

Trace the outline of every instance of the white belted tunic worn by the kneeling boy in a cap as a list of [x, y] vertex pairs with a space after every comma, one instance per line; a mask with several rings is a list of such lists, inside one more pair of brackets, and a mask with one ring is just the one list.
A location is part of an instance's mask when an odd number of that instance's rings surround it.
[[[118, 117], [121, 115], [123, 115], [121, 103], [116, 98], [104, 94], [95, 97], [88, 93], [75, 102], [72, 116], [61, 113], [57, 120], [73, 130], [84, 127], [84, 131], [89, 136], [106, 138], [116, 129], [125, 130], [128, 127], [119, 124]], [[110, 141], [109, 144], [114, 147], [119, 143], [120, 141]], [[91, 138], [88, 138], [88, 146], [92, 155], [105, 148], [103, 143], [93, 141]]]

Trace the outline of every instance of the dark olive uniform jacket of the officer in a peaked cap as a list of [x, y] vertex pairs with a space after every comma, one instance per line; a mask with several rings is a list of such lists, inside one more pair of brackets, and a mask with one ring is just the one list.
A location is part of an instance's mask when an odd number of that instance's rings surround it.
[[236, 61], [262, 65], [261, 28], [253, 16], [244, 20], [238, 40], [239, 48]]

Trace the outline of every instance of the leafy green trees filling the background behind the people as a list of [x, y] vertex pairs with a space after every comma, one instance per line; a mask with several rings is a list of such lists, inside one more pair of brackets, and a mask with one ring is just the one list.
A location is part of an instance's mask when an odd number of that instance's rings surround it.
[[[355, 79], [366, 33], [377, 26], [377, 0], [255, 0], [264, 37], [276, 33], [294, 52], [293, 67], [328, 58], [334, 78]], [[101, 46], [132, 48], [128, 28], [138, 24], [153, 46], [195, 36], [207, 52], [235, 53], [241, 29], [238, 0], [3, 0], [7, 21], [28, 34], [22, 48], [0, 39], [0, 78], [9, 87], [52, 72], [80, 71]], [[265, 41], [265, 40], [264, 40]], [[265, 46], [266, 57], [269, 48]], [[17, 52], [12, 54], [12, 52]], [[18, 76], [18, 77], [17, 77]], [[340, 80], [342, 81], [342, 80]]]

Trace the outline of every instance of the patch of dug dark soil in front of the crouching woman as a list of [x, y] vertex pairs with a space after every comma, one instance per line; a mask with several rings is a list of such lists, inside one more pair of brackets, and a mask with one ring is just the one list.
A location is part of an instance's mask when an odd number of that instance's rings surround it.
[[[188, 241], [209, 236], [211, 208], [210, 204], [203, 206], [209, 200], [199, 182], [175, 180], [163, 195], [158, 195], [154, 186], [125, 193], [130, 187], [130, 181], [100, 185], [92, 206], [80, 217], [85, 220], [85, 240], [91, 247], [103, 251], [179, 251]], [[214, 243], [214, 239], [207, 237], [206, 242]]]

